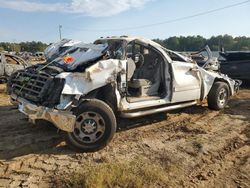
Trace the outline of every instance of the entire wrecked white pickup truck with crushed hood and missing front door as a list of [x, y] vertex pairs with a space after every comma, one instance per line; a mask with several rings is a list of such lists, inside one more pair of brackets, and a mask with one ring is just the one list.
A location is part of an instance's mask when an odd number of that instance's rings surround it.
[[12, 102], [30, 121], [47, 120], [80, 151], [107, 145], [117, 116], [135, 118], [184, 108], [204, 99], [223, 109], [240, 82], [139, 37], [101, 38], [94, 44], [63, 40], [45, 51], [47, 63], [14, 73]]

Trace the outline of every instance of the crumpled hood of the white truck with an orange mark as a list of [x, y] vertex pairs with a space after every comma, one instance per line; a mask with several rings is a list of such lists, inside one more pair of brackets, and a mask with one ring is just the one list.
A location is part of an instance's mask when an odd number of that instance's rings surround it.
[[[100, 59], [108, 49], [108, 44], [86, 44], [80, 41], [63, 39], [50, 45], [45, 50], [47, 62], [74, 71], [79, 67], [88, 67], [92, 62]], [[65, 61], [70, 58], [70, 61]]]

